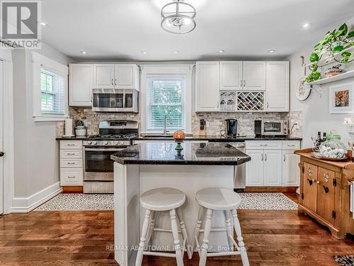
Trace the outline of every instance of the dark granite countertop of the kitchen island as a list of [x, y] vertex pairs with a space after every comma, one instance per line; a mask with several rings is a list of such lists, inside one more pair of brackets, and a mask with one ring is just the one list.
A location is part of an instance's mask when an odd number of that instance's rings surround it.
[[241, 165], [251, 157], [227, 143], [141, 143], [110, 156], [122, 165]]

